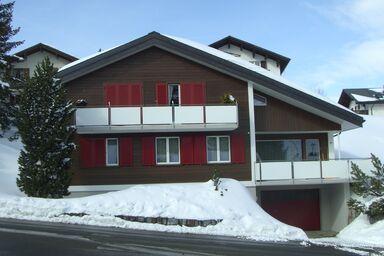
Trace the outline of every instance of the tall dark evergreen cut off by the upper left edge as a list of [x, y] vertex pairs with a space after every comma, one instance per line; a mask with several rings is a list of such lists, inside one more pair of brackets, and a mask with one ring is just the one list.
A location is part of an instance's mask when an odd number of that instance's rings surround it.
[[15, 113], [15, 108], [9, 102], [11, 93], [9, 86], [13, 82], [10, 63], [17, 58], [8, 55], [8, 52], [23, 43], [22, 41], [9, 42], [11, 37], [20, 30], [20, 28], [13, 29], [11, 26], [14, 3], [0, 3], [0, 136], [12, 125]]

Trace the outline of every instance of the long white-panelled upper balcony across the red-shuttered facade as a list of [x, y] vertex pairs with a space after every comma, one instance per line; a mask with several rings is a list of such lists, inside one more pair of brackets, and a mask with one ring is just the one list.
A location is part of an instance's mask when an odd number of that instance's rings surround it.
[[237, 105], [77, 108], [79, 134], [231, 131], [238, 127]]

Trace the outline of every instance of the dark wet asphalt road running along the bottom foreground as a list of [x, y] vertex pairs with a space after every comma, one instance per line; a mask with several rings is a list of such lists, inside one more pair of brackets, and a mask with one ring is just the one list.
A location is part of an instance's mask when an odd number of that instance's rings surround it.
[[0, 256], [19, 255], [355, 255], [299, 242], [267, 243], [178, 234], [0, 219]]

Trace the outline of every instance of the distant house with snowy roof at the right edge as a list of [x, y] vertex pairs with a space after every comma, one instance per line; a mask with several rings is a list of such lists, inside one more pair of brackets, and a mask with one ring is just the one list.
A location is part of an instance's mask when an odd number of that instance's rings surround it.
[[384, 116], [384, 88], [343, 89], [339, 104], [358, 114]]

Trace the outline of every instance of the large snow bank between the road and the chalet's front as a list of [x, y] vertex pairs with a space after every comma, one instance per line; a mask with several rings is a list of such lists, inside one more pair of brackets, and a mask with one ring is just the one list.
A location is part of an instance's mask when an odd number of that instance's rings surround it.
[[[221, 195], [221, 193], [223, 195]], [[83, 217], [62, 215], [86, 213]], [[115, 215], [222, 219], [215, 226], [185, 227], [134, 223]], [[256, 240], [304, 240], [305, 233], [265, 213], [238, 181], [223, 179], [220, 191], [211, 181], [194, 184], [138, 185], [83, 198], [0, 198], [0, 217], [92, 224], [172, 232], [242, 236]]]

